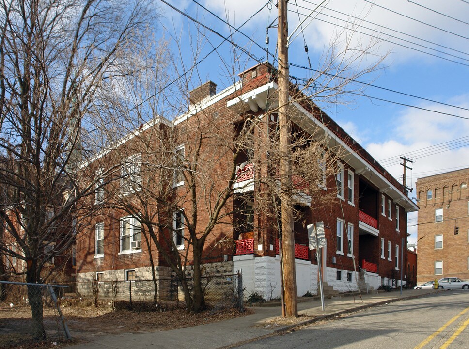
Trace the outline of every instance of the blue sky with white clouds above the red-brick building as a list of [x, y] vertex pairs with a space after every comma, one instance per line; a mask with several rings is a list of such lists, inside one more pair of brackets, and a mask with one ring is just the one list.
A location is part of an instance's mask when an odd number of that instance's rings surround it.
[[[262, 8], [240, 29], [249, 39], [240, 33], [231, 38], [257, 59], [267, 59], [266, 52], [256, 44], [267, 48], [266, 27], [276, 20], [276, 1], [196, 1], [236, 28]], [[225, 37], [233, 32], [226, 23], [193, 0], [169, 2]], [[290, 32], [299, 22], [297, 13], [303, 19], [320, 2], [322, 0], [290, 0]], [[366, 71], [379, 62], [379, 69], [360, 75], [359, 80], [460, 108], [375, 87], [363, 90], [361, 84], [349, 85], [341, 91], [357, 92], [360, 89], [372, 97], [441, 113], [356, 94], [320, 95], [318, 104], [375, 159], [383, 160], [382, 164], [396, 178], [400, 179], [403, 172], [399, 156], [413, 159], [413, 170], [407, 176], [409, 186], [414, 186], [417, 178], [423, 176], [469, 167], [469, 120], [463, 119], [469, 118], [469, 111], [461, 109], [469, 109], [469, 1], [326, 0], [324, 5], [326, 7], [311, 23], [305, 22], [303, 32], [292, 41], [290, 63], [309, 66], [304, 50], [306, 43], [312, 67], [321, 70], [330, 58], [330, 55], [324, 57], [325, 52], [334, 42], [333, 47], [338, 54], [333, 62], [337, 63], [339, 58], [349, 62], [347, 70], [339, 71], [342, 76], [354, 77], [357, 72]], [[174, 50], [175, 38], [179, 39], [185, 65], [190, 65], [194, 51], [202, 58], [223, 41], [204, 28], [199, 27], [198, 32], [192, 20], [166, 4], [161, 3], [161, 9], [163, 17], [158, 32], [166, 38], [172, 37]], [[272, 53], [276, 47], [277, 29], [270, 28], [268, 37], [268, 49]], [[369, 53], [362, 54], [367, 48]], [[207, 80], [216, 82], [219, 89], [231, 85], [234, 73], [257, 63], [243, 50], [233, 50], [233, 46], [225, 41], [197, 65], [196, 74], [191, 79], [194, 87]], [[272, 57], [269, 61], [272, 63]], [[329, 67], [328, 71], [334, 72], [334, 69]], [[292, 66], [290, 74], [308, 79], [313, 73]], [[420, 149], [423, 150], [418, 151]], [[410, 196], [415, 196], [415, 191]], [[409, 242], [416, 240], [415, 223], [416, 215], [410, 214], [409, 232], [412, 236]]]

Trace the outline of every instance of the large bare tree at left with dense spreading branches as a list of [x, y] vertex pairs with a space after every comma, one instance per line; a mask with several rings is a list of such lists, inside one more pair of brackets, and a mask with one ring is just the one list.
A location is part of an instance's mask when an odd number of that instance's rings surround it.
[[[145, 1], [1, 2], [0, 250], [25, 262], [30, 284], [44, 283], [54, 270], [45, 267], [74, 241], [72, 225], [88, 209], [82, 199], [96, 186], [83, 186], [75, 170], [83, 150], [97, 150], [86, 140], [94, 139], [98, 92], [126, 64], [125, 52], [145, 45], [154, 18]], [[33, 336], [41, 339], [42, 297], [34, 288]]]

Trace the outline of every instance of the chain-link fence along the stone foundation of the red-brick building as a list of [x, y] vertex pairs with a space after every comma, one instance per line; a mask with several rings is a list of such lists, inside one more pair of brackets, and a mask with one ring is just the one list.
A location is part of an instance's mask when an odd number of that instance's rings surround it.
[[[186, 279], [192, 293], [192, 278]], [[206, 276], [202, 278], [205, 303], [214, 308], [243, 310], [243, 286], [241, 273], [234, 275]], [[94, 302], [109, 301], [115, 307], [143, 308], [152, 304], [185, 307], [184, 286], [177, 278], [156, 280], [114, 280], [79, 282], [76, 285], [81, 297]], [[68, 291], [66, 291], [68, 292]]]

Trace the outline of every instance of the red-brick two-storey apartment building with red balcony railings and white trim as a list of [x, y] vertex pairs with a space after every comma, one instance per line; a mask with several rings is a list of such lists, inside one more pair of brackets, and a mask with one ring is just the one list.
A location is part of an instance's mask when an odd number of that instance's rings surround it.
[[[97, 155], [87, 164], [87, 169], [96, 173], [106, 172], [105, 167], [109, 163], [119, 162], [116, 157], [122, 153], [121, 146], [137, 144], [134, 147], [137, 152], [140, 151], [139, 140], [155, 128], [168, 132], [179, 129], [179, 132], [190, 135], [191, 127], [200, 125], [207, 115], [216, 120], [217, 132], [226, 128], [223, 141], [230, 149], [234, 148], [231, 140], [234, 139], [236, 125], [240, 120], [245, 120], [247, 115], [258, 118], [269, 115], [266, 127], [275, 130], [275, 113], [268, 111], [276, 103], [278, 86], [275, 70], [268, 64], [259, 64], [241, 73], [240, 77], [239, 82], [218, 93], [213, 82], [192, 91], [187, 113], [173, 122], [156, 119], [140, 127], [113, 149]], [[337, 192], [337, 195], [334, 192], [333, 200], [326, 207], [315, 210], [311, 197], [298, 187], [296, 206], [302, 215], [301, 221], [296, 221], [294, 225], [298, 295], [307, 291], [317, 293], [318, 258], [323, 261], [325, 283], [335, 290], [357, 290], [360, 283], [368, 283], [374, 288], [384, 284], [397, 286], [401, 263], [407, 265], [406, 260], [401, 260], [406, 259], [407, 212], [417, 210], [417, 206], [407, 197], [406, 189], [327, 114], [312, 103], [294, 102], [292, 105], [294, 126], [304, 132], [321, 133], [328, 139], [328, 146], [338, 149], [337, 153], [341, 154], [336, 164], [337, 173], [324, 178], [323, 191]], [[181, 143], [171, 149], [169, 154], [189, 157], [191, 147], [189, 143]], [[255, 165], [252, 159], [267, 156], [261, 149], [258, 147], [253, 150], [254, 154], [249, 154], [247, 150], [236, 159], [233, 196], [225, 208], [226, 212], [234, 213], [226, 215], [222, 219], [223, 224], [216, 225], [207, 238], [210, 248], [203, 252], [204, 272], [232, 274], [242, 269], [248, 292], [257, 291], [264, 295], [272, 293], [276, 297], [280, 295], [280, 287], [272, 289], [272, 285], [280, 285], [278, 231], [275, 231], [275, 222], [265, 217], [262, 210], [256, 209], [258, 203], [254, 199], [254, 193], [261, 188], [256, 177], [264, 170]], [[225, 154], [218, 148], [202, 149], [201, 152], [206, 152], [206, 161], [216, 159], [207, 174], [214, 180], [213, 186], [226, 185], [229, 178], [224, 172], [233, 166], [233, 154]], [[136, 156], [139, 159], [144, 157], [143, 153]], [[120, 163], [125, 166], [125, 161], [121, 160]], [[179, 178], [177, 171], [173, 171], [175, 200], [184, 195], [185, 186], [185, 181]], [[144, 178], [135, 179], [134, 182], [142, 181]], [[121, 178], [120, 184], [125, 186], [125, 176]], [[109, 197], [113, 190], [109, 187], [112, 186], [100, 187], [96, 191], [96, 201]], [[126, 194], [143, 195], [142, 191], [137, 190]], [[241, 199], [241, 195], [244, 199]], [[252, 200], [245, 199], [249, 195], [252, 195]], [[119, 200], [119, 197], [122, 196], [114, 195], [112, 200]], [[209, 199], [210, 195], [205, 194], [204, 199], [197, 203], [200, 209], [198, 221], [202, 226], [209, 219], [208, 211], [212, 208]], [[162, 228], [158, 233], [166, 238], [172, 236], [172, 248], [182, 252], [188, 248], [182, 238], [188, 229], [185, 219], [188, 206], [185, 205], [188, 204], [181, 204], [182, 208], [175, 210], [172, 217], [168, 218], [172, 220], [170, 228], [166, 225], [167, 228]], [[203, 207], [207, 207], [205, 211]], [[308, 249], [306, 227], [316, 222], [324, 222], [325, 225], [326, 247], [321, 251]], [[89, 230], [78, 236], [79, 281], [92, 277], [99, 280], [150, 279], [149, 249], [152, 251], [156, 275], [172, 275], [161, 253], [142, 238], [140, 222], [120, 209], [103, 209], [98, 217], [90, 221]], [[170, 244], [168, 248], [171, 248]], [[190, 260], [191, 251], [187, 253]], [[363, 269], [365, 273], [361, 271]], [[406, 270], [403, 271], [406, 279]]]

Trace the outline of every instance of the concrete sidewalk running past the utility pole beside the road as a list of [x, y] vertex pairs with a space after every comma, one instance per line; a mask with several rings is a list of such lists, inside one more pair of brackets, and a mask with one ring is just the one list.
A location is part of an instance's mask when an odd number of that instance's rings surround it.
[[[403, 290], [383, 292], [378, 294], [359, 295], [355, 297], [334, 298], [325, 300], [325, 312], [322, 311], [321, 301], [312, 299], [298, 303], [299, 314], [305, 314], [304, 321], [291, 326], [279, 326], [272, 321], [281, 316], [281, 307], [252, 307], [254, 314], [237, 317], [230, 320], [214, 322], [206, 325], [181, 328], [168, 331], [150, 333], [123, 333], [120, 335], [96, 337], [96, 340], [70, 346], [74, 349], [89, 348], [203, 348], [215, 349], [232, 347], [235, 344], [250, 341], [275, 332], [286, 331], [292, 327], [312, 323], [314, 321], [334, 317], [340, 314], [385, 304], [416, 298], [440, 290]], [[72, 333], [73, 336], [73, 333]]]

